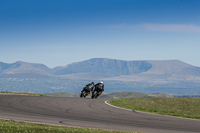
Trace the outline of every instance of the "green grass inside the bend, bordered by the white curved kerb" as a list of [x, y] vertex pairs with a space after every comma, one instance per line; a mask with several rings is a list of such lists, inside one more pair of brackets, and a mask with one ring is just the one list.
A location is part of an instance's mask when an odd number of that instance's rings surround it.
[[127, 98], [108, 103], [131, 110], [200, 119], [200, 98]]

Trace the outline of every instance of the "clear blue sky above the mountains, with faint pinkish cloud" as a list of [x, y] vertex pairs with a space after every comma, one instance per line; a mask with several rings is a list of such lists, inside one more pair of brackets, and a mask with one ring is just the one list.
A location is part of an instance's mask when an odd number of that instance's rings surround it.
[[0, 0], [0, 62], [91, 58], [200, 67], [200, 0]]

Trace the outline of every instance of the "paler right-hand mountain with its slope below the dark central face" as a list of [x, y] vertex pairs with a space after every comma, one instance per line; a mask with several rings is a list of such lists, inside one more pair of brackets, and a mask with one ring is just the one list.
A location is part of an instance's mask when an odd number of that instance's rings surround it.
[[146, 61], [151, 69], [143, 73], [121, 75], [103, 80], [148, 82], [166, 84], [175, 82], [200, 82], [200, 67], [186, 64], [179, 60]]

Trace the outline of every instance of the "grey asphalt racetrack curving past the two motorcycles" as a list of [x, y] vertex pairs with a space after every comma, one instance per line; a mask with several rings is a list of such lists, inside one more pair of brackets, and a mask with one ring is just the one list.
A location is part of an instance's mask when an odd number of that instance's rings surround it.
[[200, 132], [200, 120], [127, 111], [105, 100], [0, 95], [0, 119], [142, 133]]

